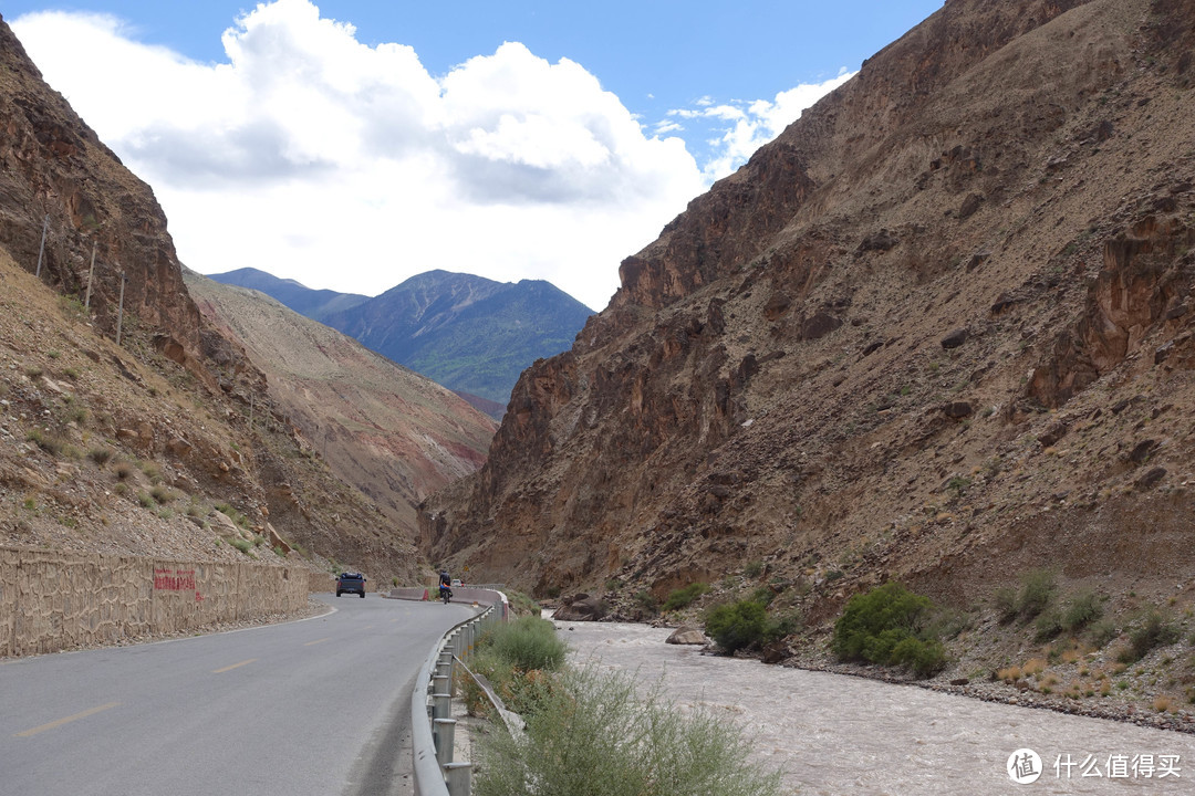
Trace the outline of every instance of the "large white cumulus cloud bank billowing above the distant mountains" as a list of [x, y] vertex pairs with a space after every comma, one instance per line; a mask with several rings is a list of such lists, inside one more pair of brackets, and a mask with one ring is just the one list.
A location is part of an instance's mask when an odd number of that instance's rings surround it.
[[258, 5], [225, 63], [134, 41], [120, 20], [13, 23], [170, 217], [179, 257], [376, 294], [429, 269], [549, 279], [600, 309], [619, 261], [705, 184], [580, 64], [517, 43], [441, 79], [367, 47], [308, 0]]

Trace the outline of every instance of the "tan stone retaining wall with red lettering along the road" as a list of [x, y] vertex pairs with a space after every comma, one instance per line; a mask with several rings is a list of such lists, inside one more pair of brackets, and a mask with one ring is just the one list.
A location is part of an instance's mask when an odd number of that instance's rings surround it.
[[308, 581], [300, 567], [0, 548], [0, 655], [298, 611]]

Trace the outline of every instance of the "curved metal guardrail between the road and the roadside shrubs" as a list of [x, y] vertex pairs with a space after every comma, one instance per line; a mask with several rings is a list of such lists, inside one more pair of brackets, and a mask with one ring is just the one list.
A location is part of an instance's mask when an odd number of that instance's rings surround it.
[[456, 659], [467, 660], [482, 634], [505, 622], [509, 613], [507, 596], [496, 590], [486, 591], [492, 596], [490, 606], [445, 634], [415, 681], [411, 747], [418, 796], [470, 796], [473, 789], [473, 764], [453, 760], [456, 720], [452, 717], [452, 698]]

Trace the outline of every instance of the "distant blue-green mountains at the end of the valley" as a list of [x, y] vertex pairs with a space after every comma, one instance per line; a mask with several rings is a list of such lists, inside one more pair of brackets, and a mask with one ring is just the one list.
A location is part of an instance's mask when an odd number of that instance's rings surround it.
[[547, 282], [501, 283], [448, 271], [421, 273], [362, 301], [253, 269], [212, 278], [261, 290], [496, 418], [523, 369], [565, 351], [592, 314]]

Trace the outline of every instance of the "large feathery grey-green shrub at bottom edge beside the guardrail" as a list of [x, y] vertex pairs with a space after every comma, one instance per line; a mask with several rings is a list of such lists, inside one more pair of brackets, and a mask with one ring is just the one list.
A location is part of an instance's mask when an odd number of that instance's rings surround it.
[[565, 674], [526, 733], [491, 733], [477, 796], [776, 796], [779, 775], [704, 710], [682, 712], [658, 689], [595, 668]]

